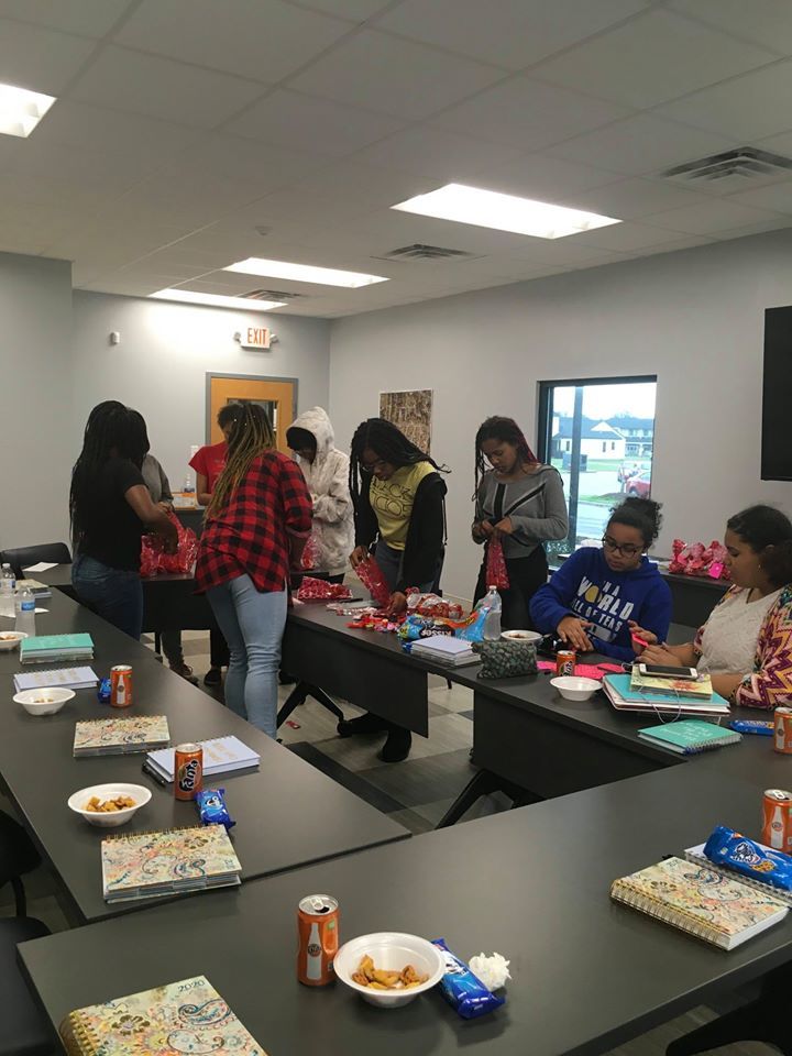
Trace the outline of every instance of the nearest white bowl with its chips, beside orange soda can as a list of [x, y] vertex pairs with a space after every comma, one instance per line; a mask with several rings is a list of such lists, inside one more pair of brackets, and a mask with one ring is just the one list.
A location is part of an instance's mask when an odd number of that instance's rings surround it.
[[426, 938], [374, 932], [344, 943], [333, 960], [336, 977], [380, 1009], [400, 1009], [443, 977], [442, 954]]

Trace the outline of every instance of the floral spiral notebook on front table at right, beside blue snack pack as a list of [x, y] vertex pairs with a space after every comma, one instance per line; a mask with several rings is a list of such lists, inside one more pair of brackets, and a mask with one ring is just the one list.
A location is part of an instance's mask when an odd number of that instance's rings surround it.
[[770, 893], [681, 858], [615, 880], [610, 898], [722, 949], [772, 927], [789, 911]]

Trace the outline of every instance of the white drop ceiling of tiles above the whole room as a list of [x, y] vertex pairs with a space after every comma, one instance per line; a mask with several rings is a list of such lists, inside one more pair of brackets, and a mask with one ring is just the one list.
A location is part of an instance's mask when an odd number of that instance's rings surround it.
[[[0, 251], [80, 289], [300, 294], [333, 318], [792, 226], [789, 0], [0, 0], [0, 81], [58, 97], [0, 135]], [[623, 223], [546, 241], [389, 207], [446, 183]], [[457, 250], [392, 260], [413, 243]], [[371, 272], [361, 289], [222, 268]]]

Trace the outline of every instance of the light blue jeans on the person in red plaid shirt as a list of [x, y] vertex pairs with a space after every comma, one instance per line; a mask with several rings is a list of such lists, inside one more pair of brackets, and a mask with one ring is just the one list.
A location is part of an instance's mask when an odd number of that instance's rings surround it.
[[274, 738], [286, 591], [260, 592], [245, 574], [211, 587], [207, 597], [231, 651], [226, 703]]

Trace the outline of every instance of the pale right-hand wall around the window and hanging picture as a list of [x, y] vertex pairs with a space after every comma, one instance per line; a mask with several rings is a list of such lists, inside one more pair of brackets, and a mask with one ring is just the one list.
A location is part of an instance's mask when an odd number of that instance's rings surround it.
[[750, 503], [792, 513], [792, 485], [759, 480], [763, 311], [790, 304], [787, 230], [339, 319], [330, 410], [348, 443], [381, 391], [435, 391], [432, 454], [453, 470], [443, 585], [470, 597], [479, 424], [509, 415], [536, 440], [539, 381], [656, 373], [652, 495], [668, 553], [675, 536], [721, 537]]

